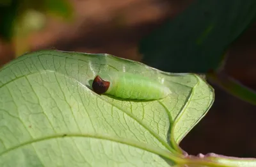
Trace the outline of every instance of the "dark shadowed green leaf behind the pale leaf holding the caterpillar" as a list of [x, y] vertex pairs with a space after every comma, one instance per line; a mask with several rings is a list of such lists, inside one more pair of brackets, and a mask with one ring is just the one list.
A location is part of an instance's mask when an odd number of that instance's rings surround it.
[[255, 0], [198, 0], [141, 40], [143, 61], [170, 72], [219, 67], [229, 45], [255, 20]]

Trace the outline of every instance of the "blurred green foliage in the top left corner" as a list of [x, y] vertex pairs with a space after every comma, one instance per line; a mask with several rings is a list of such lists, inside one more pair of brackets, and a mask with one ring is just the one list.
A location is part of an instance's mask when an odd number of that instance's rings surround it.
[[[1, 0], [0, 1], [0, 38], [6, 41], [10, 41], [15, 34], [15, 28], [24, 29], [24, 31], [33, 31], [38, 29], [35, 24], [28, 24], [28, 18], [30, 22], [36, 22], [36, 24], [44, 24], [44, 19], [38, 17], [35, 13], [28, 11], [33, 10], [38, 13], [54, 14], [64, 19], [72, 18], [72, 5], [68, 0]], [[28, 16], [28, 18], [24, 18]], [[23, 22], [24, 21], [24, 22]], [[24, 26], [25, 25], [25, 26]], [[20, 32], [20, 31], [19, 31]], [[19, 34], [20, 35], [20, 34]]]

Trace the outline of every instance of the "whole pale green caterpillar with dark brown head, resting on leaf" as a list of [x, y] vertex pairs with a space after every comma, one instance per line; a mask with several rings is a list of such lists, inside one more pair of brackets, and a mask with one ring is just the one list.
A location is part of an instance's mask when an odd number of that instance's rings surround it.
[[129, 72], [109, 72], [96, 76], [92, 84], [98, 94], [109, 94], [122, 99], [157, 100], [171, 93], [164, 84]]

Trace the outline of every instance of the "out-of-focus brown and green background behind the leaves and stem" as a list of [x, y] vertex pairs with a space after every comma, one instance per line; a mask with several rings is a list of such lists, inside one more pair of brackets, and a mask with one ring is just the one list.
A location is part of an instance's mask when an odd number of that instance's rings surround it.
[[[167, 18], [175, 18], [193, 0], [32, 2], [35, 1], [27, 0], [17, 7], [19, 1], [0, 0], [1, 66], [24, 52], [40, 49], [108, 53], [141, 61], [142, 55], [138, 53], [141, 38]], [[16, 22], [10, 29], [12, 17]], [[256, 90], [255, 54], [256, 22], [230, 45], [225, 64], [230, 76], [253, 90]], [[212, 86], [216, 93], [212, 108], [180, 147], [193, 155], [214, 152], [256, 157], [256, 106]]]

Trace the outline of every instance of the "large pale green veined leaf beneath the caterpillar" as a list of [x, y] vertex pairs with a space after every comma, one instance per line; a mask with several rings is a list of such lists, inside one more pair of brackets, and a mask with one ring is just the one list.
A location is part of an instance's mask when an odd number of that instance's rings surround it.
[[[161, 100], [113, 99], [90, 90], [99, 72], [156, 78]], [[0, 166], [173, 166], [177, 144], [207, 113], [214, 91], [195, 74], [171, 74], [109, 54], [38, 51], [0, 70]]]

